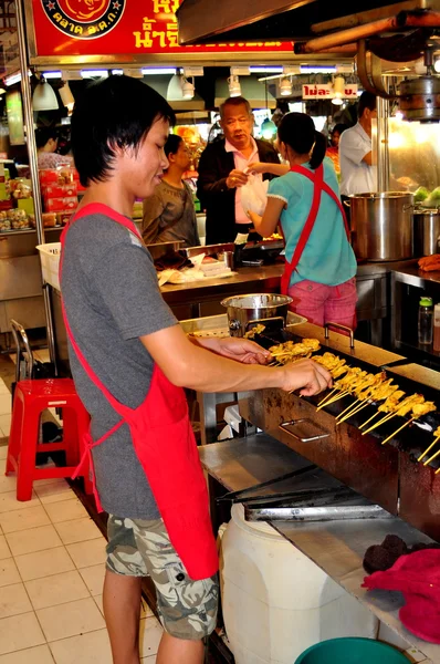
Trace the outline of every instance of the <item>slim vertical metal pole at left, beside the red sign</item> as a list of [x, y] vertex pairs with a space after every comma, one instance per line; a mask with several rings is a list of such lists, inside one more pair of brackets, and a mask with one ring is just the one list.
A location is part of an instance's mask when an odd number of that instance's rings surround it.
[[[44, 227], [42, 217], [42, 204], [41, 204], [41, 189], [39, 178], [39, 165], [36, 157], [36, 143], [35, 133], [33, 131], [33, 107], [32, 107], [32, 91], [31, 84], [28, 76], [29, 71], [29, 59], [28, 59], [28, 46], [27, 35], [24, 25], [24, 11], [23, 0], [17, 0], [17, 37], [19, 42], [19, 56], [20, 56], [20, 72], [21, 72], [21, 94], [23, 97], [23, 113], [24, 113], [24, 125], [25, 136], [28, 145], [29, 167], [31, 172], [32, 191], [33, 191], [33, 206], [35, 212], [35, 228], [36, 228], [36, 240], [39, 245], [44, 243]], [[51, 303], [49, 298], [48, 287], [43, 286], [43, 302], [44, 312], [46, 318], [46, 330], [48, 330], [48, 346], [51, 362], [55, 363], [55, 341], [53, 334], [52, 312]]]

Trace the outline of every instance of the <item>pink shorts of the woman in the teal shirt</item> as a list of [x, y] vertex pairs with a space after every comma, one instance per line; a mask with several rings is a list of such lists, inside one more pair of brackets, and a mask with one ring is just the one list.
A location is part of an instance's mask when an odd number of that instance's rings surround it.
[[310, 323], [322, 328], [329, 322], [352, 329], [356, 326], [355, 278], [339, 286], [300, 281], [289, 289], [289, 295], [293, 300], [291, 309], [304, 315]]

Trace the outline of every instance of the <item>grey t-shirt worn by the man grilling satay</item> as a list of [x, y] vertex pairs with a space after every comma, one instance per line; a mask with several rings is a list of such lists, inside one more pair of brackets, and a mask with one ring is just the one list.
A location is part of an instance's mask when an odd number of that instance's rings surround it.
[[[161, 298], [148, 250], [109, 217], [83, 217], [66, 236], [62, 292], [72, 332], [93, 371], [117, 401], [136, 408], [148, 394], [154, 369], [139, 336], [177, 323]], [[88, 378], [72, 347], [70, 361], [97, 440], [121, 417]], [[159, 517], [127, 425], [95, 447], [93, 459], [107, 512], [136, 519]]]

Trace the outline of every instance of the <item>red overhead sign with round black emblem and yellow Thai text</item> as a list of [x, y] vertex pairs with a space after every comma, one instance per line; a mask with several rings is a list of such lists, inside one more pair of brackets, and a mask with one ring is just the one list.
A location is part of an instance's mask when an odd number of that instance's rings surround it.
[[292, 42], [181, 46], [182, 0], [32, 0], [38, 56], [148, 53], [292, 52]]

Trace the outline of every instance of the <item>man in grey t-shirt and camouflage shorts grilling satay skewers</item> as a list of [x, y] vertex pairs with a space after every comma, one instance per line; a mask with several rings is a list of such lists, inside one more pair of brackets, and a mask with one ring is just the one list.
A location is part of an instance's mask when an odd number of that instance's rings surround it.
[[163, 300], [130, 212], [161, 180], [174, 121], [159, 94], [127, 76], [92, 84], [72, 116], [86, 190], [62, 237], [61, 284], [72, 373], [92, 417], [96, 497], [108, 512], [103, 603], [114, 664], [139, 664], [145, 575], [165, 630], [158, 664], [201, 664], [216, 625], [216, 541], [182, 387], [311, 395], [331, 383], [308, 360], [264, 366], [269, 353], [249, 340], [192, 342]]

